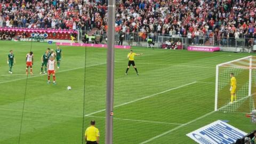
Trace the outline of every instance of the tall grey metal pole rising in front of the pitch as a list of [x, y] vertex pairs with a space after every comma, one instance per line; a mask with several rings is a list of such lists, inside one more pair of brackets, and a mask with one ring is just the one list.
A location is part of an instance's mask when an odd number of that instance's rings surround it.
[[116, 1], [108, 1], [108, 52], [107, 52], [107, 95], [106, 95], [106, 135], [105, 143], [113, 143], [113, 103], [114, 103], [114, 56], [115, 56], [115, 7]]

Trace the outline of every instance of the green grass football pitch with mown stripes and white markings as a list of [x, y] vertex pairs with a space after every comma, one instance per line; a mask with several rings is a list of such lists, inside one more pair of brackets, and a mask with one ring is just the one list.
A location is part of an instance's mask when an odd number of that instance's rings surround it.
[[[64, 57], [53, 85], [39, 75], [47, 47], [56, 46], [0, 41], [0, 143], [82, 143], [91, 119], [104, 143], [107, 50], [61, 46]], [[30, 49], [34, 75], [27, 77]], [[10, 50], [16, 59], [12, 75]], [[248, 53], [132, 50], [143, 53], [135, 57], [139, 76], [133, 68], [125, 75], [130, 50], [115, 50], [114, 143], [195, 143], [186, 134], [218, 119], [254, 130], [243, 113], [213, 111], [215, 66]]]

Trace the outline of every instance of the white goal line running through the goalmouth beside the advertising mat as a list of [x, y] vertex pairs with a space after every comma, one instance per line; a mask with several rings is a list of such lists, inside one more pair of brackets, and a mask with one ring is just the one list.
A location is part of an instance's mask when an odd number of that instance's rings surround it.
[[[238, 101], [244, 100], [244, 99], [246, 99], [246, 98], [248, 98], [248, 97], [250, 97], [250, 96], [251, 96], [251, 95], [247, 95], [246, 97], [244, 97], [244, 98], [242, 98], [242, 99], [240, 99], [240, 100], [238, 100]], [[238, 101], [237, 101], [237, 102], [238, 102]], [[223, 106], [223, 107], [219, 108], [218, 110], [221, 110], [221, 109], [223, 109], [223, 108], [226, 108], [226, 107], [228, 107], [228, 106], [230, 106], [230, 105], [232, 105], [232, 104], [229, 103], [228, 105]], [[206, 116], [209, 116], [209, 115], [213, 114], [214, 112], [215, 112], [215, 111], [213, 110], [213, 111], [211, 111], [210, 113], [207, 113], [207, 114], [205, 114], [205, 115], [203, 115], [203, 116], [201, 116], [201, 117], [198, 117], [198, 118], [196, 118], [196, 119], [193, 119], [192, 121], [189, 121], [189, 122], [187, 122], [187, 123], [185, 123], [185, 124], [182, 124], [182, 125], [180, 125], [180, 126], [174, 127], [173, 129], [171, 129], [171, 130], [169, 130], [169, 131], [166, 131], [166, 132], [164, 132], [164, 133], [162, 133], [162, 134], [159, 134], [159, 135], [157, 135], [156, 137], [153, 137], [153, 138], [151, 138], [151, 139], [148, 139], [148, 140], [146, 140], [146, 141], [143, 141], [143, 142], [141, 142], [140, 144], [147, 143], [147, 142], [150, 142], [150, 141], [152, 141], [152, 140], [155, 140], [155, 139], [157, 139], [157, 138], [159, 138], [159, 137], [162, 137], [162, 136], [165, 135], [165, 134], [168, 134], [168, 133], [170, 133], [170, 132], [173, 132], [173, 131], [175, 131], [175, 130], [177, 130], [177, 129], [180, 129], [180, 128], [183, 127], [183, 126], [187, 126], [187, 125], [189, 125], [189, 124], [191, 124], [191, 123], [194, 123], [194, 122], [198, 121], [199, 119], [202, 119], [202, 118], [204, 118], [204, 117], [206, 117]]]

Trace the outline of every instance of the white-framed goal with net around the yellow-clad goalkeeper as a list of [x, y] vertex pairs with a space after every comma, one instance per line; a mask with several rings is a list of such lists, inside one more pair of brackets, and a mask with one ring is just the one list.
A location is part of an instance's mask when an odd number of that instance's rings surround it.
[[[230, 74], [236, 78], [236, 99], [231, 102]], [[249, 56], [216, 66], [215, 111], [250, 113], [255, 106], [256, 59]]]

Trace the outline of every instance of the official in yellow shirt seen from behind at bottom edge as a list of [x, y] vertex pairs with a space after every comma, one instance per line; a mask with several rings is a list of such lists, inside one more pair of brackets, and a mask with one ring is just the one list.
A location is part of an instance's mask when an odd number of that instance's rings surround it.
[[95, 121], [91, 121], [91, 126], [87, 127], [84, 135], [86, 144], [99, 144], [100, 132], [95, 127]]

